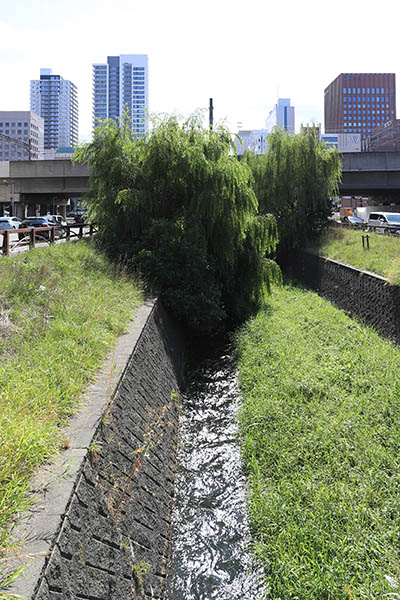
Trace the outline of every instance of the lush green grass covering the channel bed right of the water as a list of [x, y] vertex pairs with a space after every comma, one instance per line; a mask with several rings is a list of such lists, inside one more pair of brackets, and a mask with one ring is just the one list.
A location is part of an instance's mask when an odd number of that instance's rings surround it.
[[400, 351], [300, 287], [238, 335], [271, 600], [400, 598]]

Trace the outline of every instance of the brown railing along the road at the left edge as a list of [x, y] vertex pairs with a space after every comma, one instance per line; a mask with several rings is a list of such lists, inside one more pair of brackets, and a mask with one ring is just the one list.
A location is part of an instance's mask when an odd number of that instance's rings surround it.
[[[76, 231], [78, 230], [78, 231]], [[13, 252], [23, 247], [35, 248], [37, 243], [45, 242], [54, 244], [55, 242], [73, 238], [81, 239], [92, 236], [97, 233], [95, 223], [74, 223], [72, 225], [56, 225], [51, 227], [27, 227], [23, 229], [4, 229], [0, 230], [3, 236], [0, 243], [0, 255], [10, 256]], [[18, 236], [18, 239], [12, 239]], [[0, 240], [1, 241], [1, 240]]]

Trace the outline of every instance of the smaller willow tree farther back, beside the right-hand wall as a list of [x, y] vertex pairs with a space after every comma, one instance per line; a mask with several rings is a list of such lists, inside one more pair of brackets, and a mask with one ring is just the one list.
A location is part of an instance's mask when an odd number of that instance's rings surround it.
[[276, 217], [279, 252], [285, 256], [327, 226], [341, 162], [337, 151], [327, 149], [313, 130], [292, 135], [277, 129], [268, 144], [267, 154], [248, 153], [243, 160], [254, 175], [260, 212]]

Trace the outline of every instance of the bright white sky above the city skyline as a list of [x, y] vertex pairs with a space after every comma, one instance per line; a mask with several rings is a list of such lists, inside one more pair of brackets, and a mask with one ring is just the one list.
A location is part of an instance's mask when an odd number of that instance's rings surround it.
[[51, 68], [78, 87], [88, 141], [92, 64], [147, 54], [150, 113], [206, 120], [213, 98], [215, 123], [262, 129], [290, 98], [299, 130], [323, 124], [340, 73], [398, 79], [399, 23], [399, 0], [0, 0], [0, 110], [29, 110], [30, 80]]

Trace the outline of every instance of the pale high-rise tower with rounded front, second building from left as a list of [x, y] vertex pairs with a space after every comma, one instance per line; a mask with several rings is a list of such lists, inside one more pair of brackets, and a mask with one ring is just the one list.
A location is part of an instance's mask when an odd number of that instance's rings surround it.
[[44, 120], [45, 150], [73, 147], [78, 143], [78, 93], [74, 83], [51, 69], [40, 69], [31, 81], [31, 111]]

